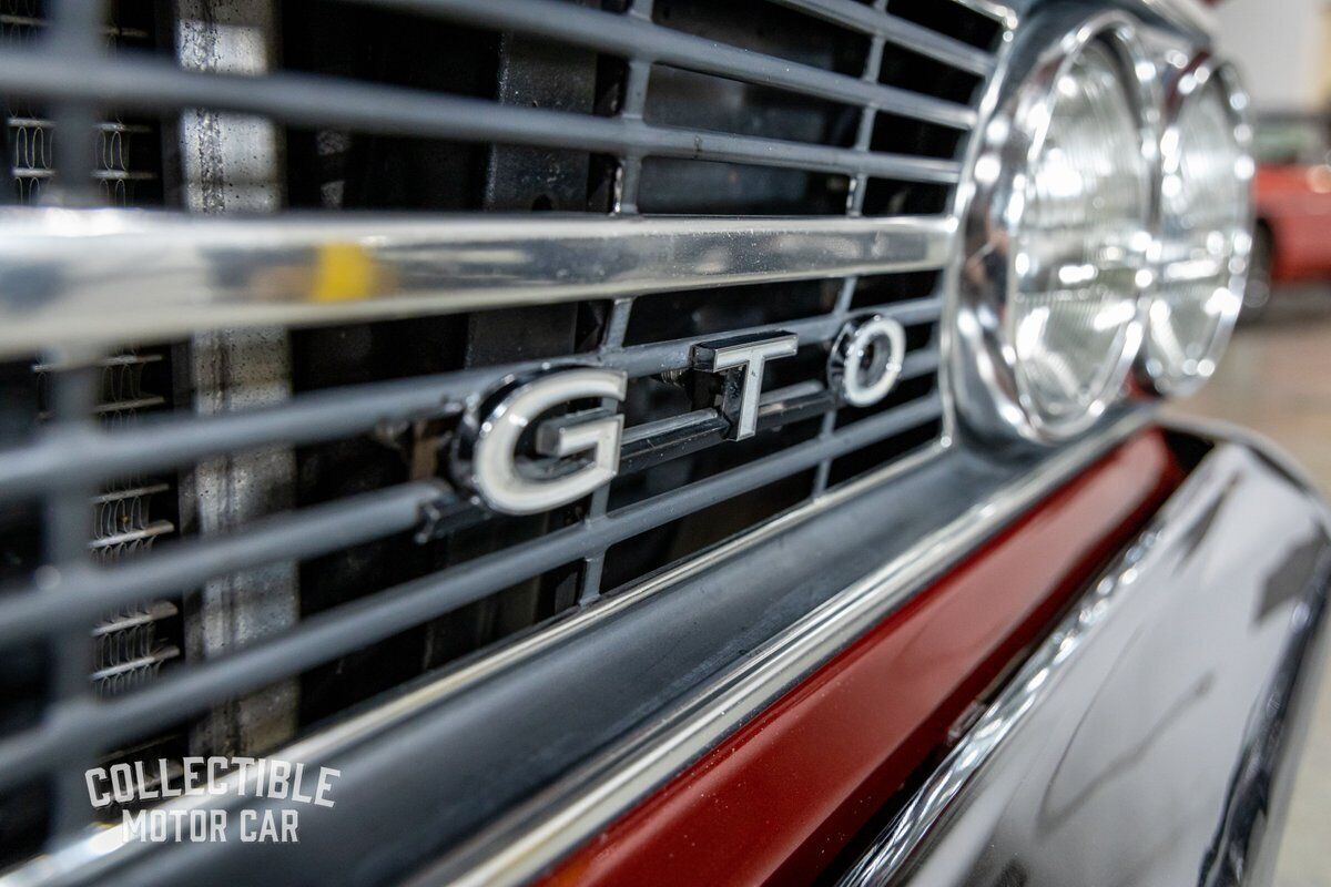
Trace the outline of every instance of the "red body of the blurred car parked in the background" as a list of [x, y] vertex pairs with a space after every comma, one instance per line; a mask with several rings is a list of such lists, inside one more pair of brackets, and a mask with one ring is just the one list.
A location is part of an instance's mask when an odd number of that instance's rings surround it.
[[1272, 281], [1331, 277], [1331, 166], [1260, 166], [1256, 214], [1271, 229]]

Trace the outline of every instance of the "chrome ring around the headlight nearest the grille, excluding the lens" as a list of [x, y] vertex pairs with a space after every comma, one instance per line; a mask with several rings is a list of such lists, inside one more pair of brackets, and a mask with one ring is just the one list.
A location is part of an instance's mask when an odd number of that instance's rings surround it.
[[[1138, 311], [1125, 322], [1121, 351], [1106, 355], [1113, 366], [1103, 390], [1081, 415], [1050, 422], [1022, 388], [1005, 318], [1013, 286], [1009, 245], [1021, 223], [1025, 176], [1040, 160], [1059, 77], [1093, 44], [1103, 45], [1122, 73], [1137, 124], [1134, 141], [1145, 161], [1142, 230], [1147, 235], [1151, 231], [1161, 92], [1138, 27], [1133, 17], [1118, 12], [1086, 19], [1085, 12], [1069, 11], [1029, 21], [976, 132], [970, 174], [958, 189], [958, 207], [964, 207], [961, 259], [945, 348], [958, 419], [988, 440], [1050, 444], [1085, 432], [1121, 396], [1137, 359], [1146, 289], [1137, 291]], [[1149, 267], [1147, 259], [1143, 250], [1143, 269]]]

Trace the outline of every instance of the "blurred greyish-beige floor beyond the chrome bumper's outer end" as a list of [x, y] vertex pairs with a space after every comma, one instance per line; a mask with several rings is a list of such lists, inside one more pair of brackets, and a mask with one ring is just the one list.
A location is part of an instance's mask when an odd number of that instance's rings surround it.
[[[1256, 428], [1331, 495], [1331, 290], [1278, 299], [1260, 323], [1239, 328], [1215, 379], [1178, 408]], [[1331, 674], [1322, 682], [1275, 883], [1331, 887]]]

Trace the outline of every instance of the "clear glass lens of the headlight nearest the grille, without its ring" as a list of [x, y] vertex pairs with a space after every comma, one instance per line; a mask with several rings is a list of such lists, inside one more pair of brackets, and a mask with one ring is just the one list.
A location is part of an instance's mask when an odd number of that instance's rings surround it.
[[1005, 332], [1017, 394], [1045, 436], [1094, 422], [1141, 344], [1150, 165], [1129, 76], [1102, 43], [1066, 65], [1020, 191]]

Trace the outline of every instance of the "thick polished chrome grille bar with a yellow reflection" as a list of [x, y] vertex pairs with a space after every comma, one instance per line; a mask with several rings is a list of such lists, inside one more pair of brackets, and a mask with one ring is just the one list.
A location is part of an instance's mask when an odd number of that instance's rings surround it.
[[954, 237], [944, 217], [241, 221], [5, 210], [0, 352], [932, 270]]

